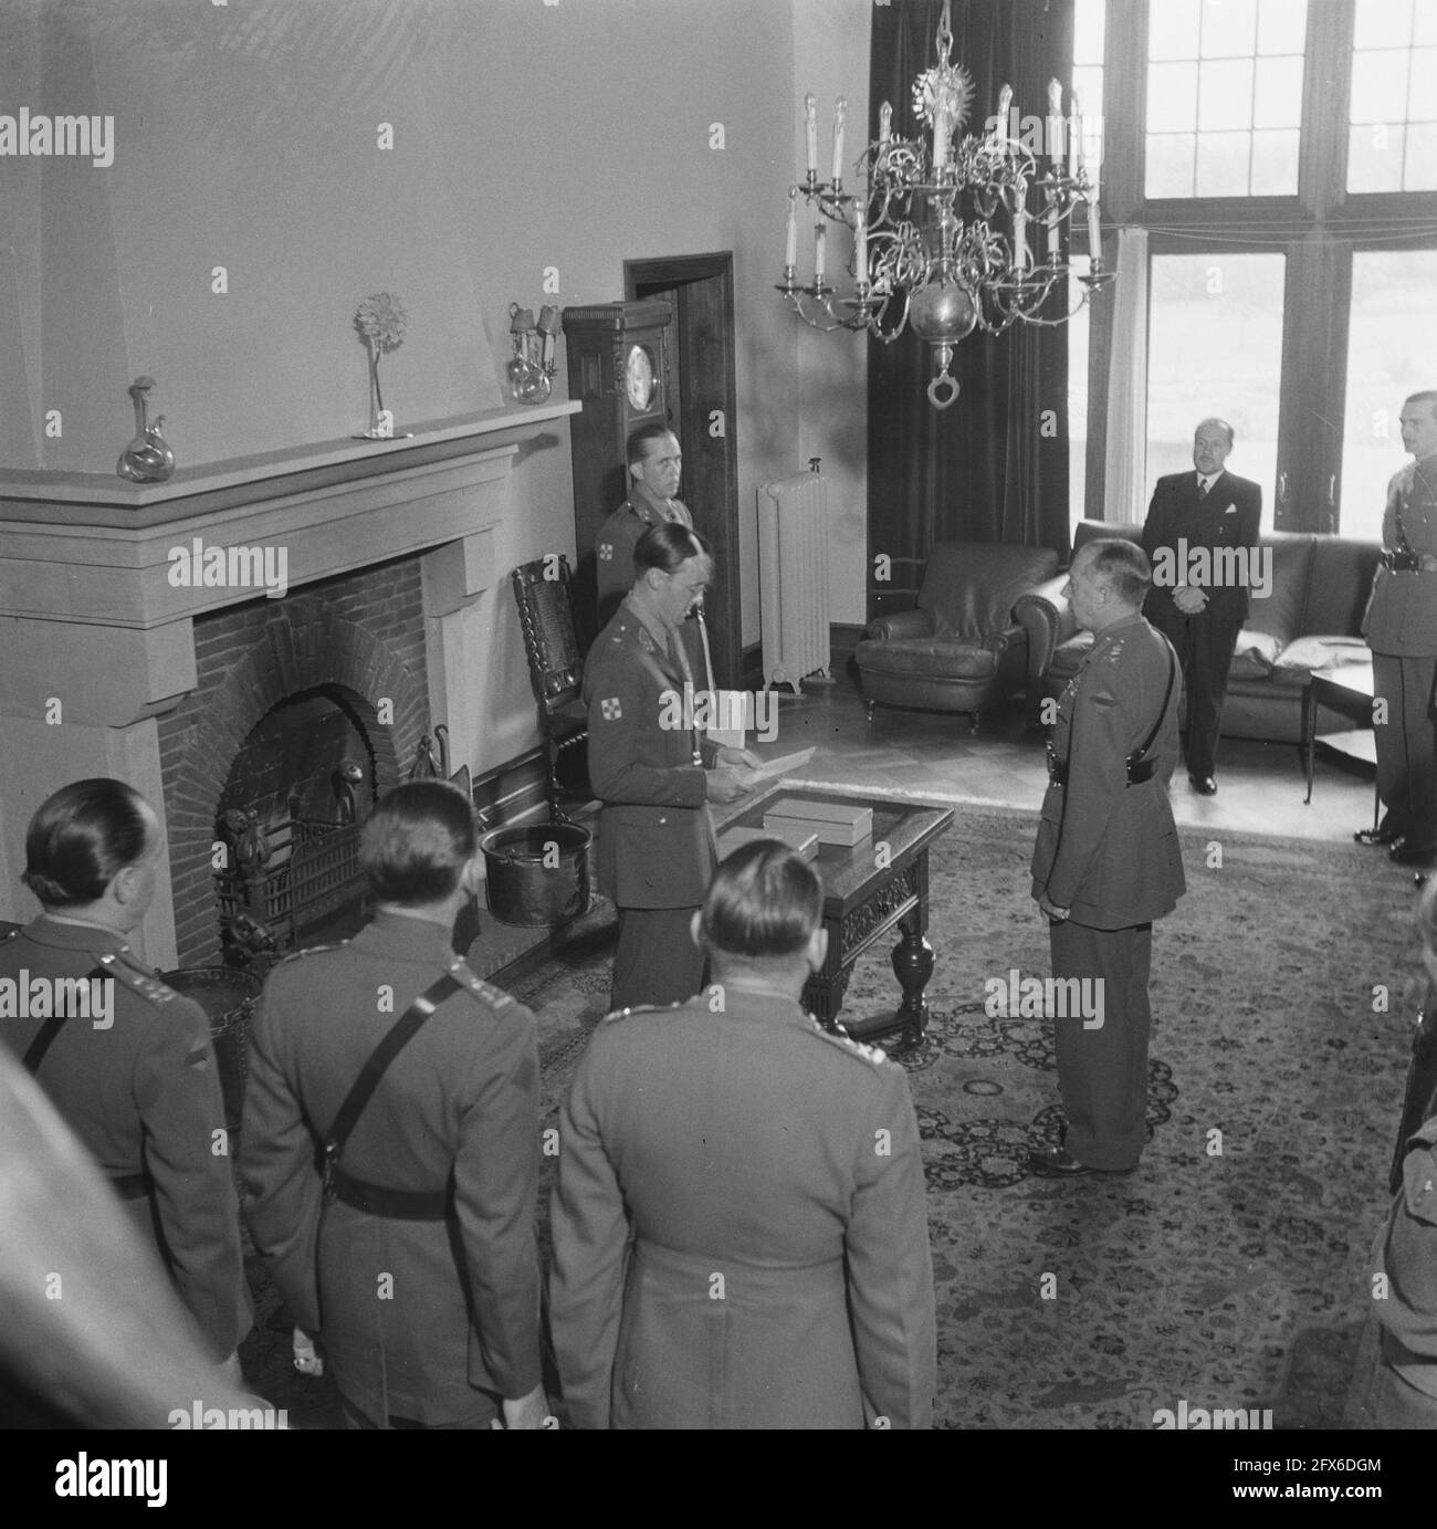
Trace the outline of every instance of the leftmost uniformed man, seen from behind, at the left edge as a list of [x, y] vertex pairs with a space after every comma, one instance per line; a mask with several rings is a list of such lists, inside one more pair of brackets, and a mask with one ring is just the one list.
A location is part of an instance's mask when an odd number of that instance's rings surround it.
[[0, 1038], [157, 1248], [211, 1361], [238, 1382], [252, 1315], [209, 1023], [127, 940], [162, 853], [154, 809], [122, 781], [78, 780], [41, 804], [21, 879], [44, 911], [0, 945]]

